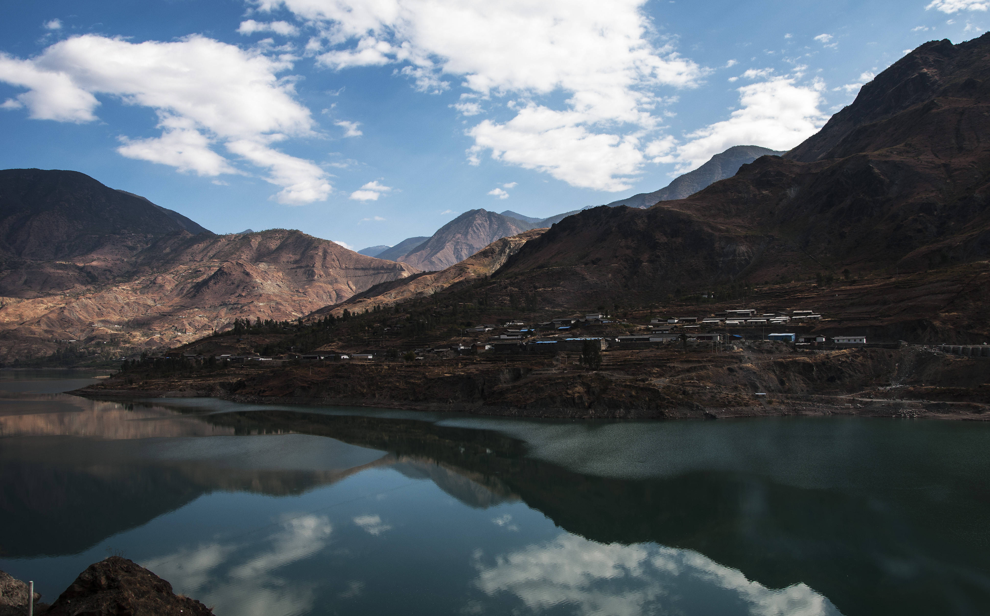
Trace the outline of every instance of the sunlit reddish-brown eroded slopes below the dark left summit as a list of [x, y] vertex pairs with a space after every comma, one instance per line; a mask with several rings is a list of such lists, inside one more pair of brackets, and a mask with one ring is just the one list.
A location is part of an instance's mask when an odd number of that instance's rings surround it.
[[[92, 255], [64, 265], [82, 271], [94, 262], [115, 267]], [[0, 356], [37, 356], [59, 340], [173, 346], [235, 318], [295, 319], [415, 272], [299, 231], [181, 232], [129, 258], [124, 274], [75, 284], [67, 293], [0, 298]]]

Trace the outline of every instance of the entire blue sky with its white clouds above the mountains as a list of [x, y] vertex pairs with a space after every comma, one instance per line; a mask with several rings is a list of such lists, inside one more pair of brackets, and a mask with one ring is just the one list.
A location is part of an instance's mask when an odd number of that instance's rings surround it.
[[990, 0], [6, 2], [0, 165], [354, 249], [789, 149]]

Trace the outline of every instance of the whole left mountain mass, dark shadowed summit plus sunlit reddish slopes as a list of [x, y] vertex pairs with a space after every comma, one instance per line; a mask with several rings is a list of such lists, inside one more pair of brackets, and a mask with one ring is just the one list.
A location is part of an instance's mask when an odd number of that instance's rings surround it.
[[82, 173], [21, 171], [0, 172], [4, 359], [67, 341], [173, 345], [235, 318], [304, 316], [417, 271], [299, 231], [192, 235], [192, 221]]

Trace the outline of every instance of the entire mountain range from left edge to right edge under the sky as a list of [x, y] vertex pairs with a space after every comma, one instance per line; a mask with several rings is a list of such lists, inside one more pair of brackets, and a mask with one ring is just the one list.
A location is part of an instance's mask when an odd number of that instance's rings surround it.
[[467, 280], [486, 303], [539, 295], [564, 309], [972, 263], [990, 254], [987, 101], [990, 35], [931, 42], [792, 151], [730, 149], [624, 201], [707, 183], [685, 198], [536, 222], [474, 209], [379, 258], [298, 231], [218, 236], [74, 171], [0, 171], [0, 354], [108, 337], [174, 345], [234, 318], [381, 307]]

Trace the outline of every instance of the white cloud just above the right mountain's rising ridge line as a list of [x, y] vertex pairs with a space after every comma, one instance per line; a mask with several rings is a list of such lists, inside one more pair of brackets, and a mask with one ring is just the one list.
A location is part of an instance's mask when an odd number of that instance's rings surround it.
[[819, 110], [824, 88], [818, 80], [797, 85], [789, 75], [744, 85], [739, 88], [742, 108], [728, 120], [688, 134], [687, 142], [676, 148], [670, 140], [652, 142], [647, 154], [655, 162], [675, 162], [677, 170], [685, 172], [733, 146], [790, 150], [817, 133], [829, 119]]

